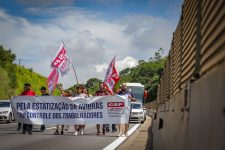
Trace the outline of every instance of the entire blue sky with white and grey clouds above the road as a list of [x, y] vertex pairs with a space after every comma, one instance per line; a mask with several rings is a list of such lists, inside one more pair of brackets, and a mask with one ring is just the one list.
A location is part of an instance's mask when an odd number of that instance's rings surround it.
[[[1, 0], [0, 45], [16, 54], [15, 63], [43, 76], [62, 40], [79, 83], [104, 79], [116, 56], [118, 71], [165, 55], [181, 14], [182, 0]], [[73, 70], [60, 77], [64, 88], [76, 84]]]

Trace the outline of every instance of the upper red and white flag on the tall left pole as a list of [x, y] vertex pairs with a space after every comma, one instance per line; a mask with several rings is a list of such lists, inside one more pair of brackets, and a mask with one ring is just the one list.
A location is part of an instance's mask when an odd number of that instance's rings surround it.
[[61, 44], [60, 50], [53, 60], [51, 66], [53, 68], [57, 68], [62, 76], [65, 75], [71, 68], [71, 60], [63, 43]]

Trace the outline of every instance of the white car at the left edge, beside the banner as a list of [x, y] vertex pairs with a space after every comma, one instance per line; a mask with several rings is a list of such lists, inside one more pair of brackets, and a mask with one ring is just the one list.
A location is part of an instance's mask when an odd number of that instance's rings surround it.
[[0, 121], [7, 121], [7, 123], [15, 120], [10, 100], [0, 100]]

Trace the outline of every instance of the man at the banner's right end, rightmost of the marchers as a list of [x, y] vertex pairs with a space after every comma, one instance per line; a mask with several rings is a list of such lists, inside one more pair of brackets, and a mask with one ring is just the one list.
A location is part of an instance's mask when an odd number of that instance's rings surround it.
[[[130, 101], [136, 101], [135, 98], [133, 97], [133, 95], [131, 94], [131, 92], [127, 89], [126, 83], [122, 84], [121, 90], [117, 94], [121, 95], [121, 96], [123, 96], [123, 95], [127, 96]], [[119, 124], [118, 127], [119, 127], [119, 135], [118, 136], [128, 136], [127, 131], [129, 129], [129, 122], [126, 124]], [[124, 131], [122, 131], [122, 127], [125, 128]]]

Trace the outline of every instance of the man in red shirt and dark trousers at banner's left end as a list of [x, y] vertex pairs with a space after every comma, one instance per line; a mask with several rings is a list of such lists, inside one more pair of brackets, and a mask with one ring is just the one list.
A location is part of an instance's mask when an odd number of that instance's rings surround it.
[[[35, 92], [31, 90], [30, 83], [24, 84], [24, 91], [20, 95], [21, 96], [36, 96]], [[17, 130], [20, 130], [20, 128], [21, 128], [21, 123], [18, 123]], [[26, 132], [28, 134], [32, 134], [32, 128], [33, 128], [32, 124], [23, 124], [23, 134], [26, 134]]]

